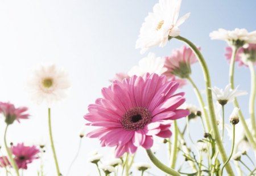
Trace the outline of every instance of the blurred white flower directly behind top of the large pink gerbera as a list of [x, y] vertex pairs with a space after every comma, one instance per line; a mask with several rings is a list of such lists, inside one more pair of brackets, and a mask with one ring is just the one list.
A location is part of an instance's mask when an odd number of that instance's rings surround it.
[[162, 75], [165, 71], [167, 71], [167, 68], [164, 68], [164, 58], [156, 57], [154, 53], [148, 53], [147, 57], [139, 61], [138, 66], [131, 68], [128, 75], [143, 76], [147, 72]]

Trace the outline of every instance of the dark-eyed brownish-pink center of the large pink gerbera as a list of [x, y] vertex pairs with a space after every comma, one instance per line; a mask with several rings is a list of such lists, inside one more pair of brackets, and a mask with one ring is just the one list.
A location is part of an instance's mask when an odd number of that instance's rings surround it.
[[152, 115], [147, 108], [136, 107], [126, 111], [121, 124], [126, 130], [139, 130], [152, 121]]

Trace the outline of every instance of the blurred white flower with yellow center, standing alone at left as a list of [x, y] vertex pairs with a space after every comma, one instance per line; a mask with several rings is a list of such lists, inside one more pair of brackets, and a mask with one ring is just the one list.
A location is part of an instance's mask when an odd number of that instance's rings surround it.
[[46, 100], [48, 105], [62, 100], [66, 96], [65, 91], [70, 87], [67, 73], [57, 69], [55, 65], [41, 66], [32, 76], [29, 85], [32, 98], [38, 104], [43, 100]]

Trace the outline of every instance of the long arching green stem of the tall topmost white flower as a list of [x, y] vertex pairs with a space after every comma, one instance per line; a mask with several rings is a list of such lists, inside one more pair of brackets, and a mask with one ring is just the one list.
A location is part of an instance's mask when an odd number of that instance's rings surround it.
[[[189, 45], [189, 47], [197, 55], [197, 58], [199, 59], [201, 67], [203, 68], [205, 87], [206, 87], [205, 89], [207, 92], [207, 102], [208, 102], [209, 113], [210, 113], [210, 122], [212, 124], [214, 138], [216, 140], [218, 150], [220, 151], [221, 159], [222, 159], [222, 161], [226, 161], [227, 156], [226, 156], [226, 152], [225, 152], [224, 146], [223, 146], [221, 138], [220, 138], [220, 133], [218, 132], [217, 120], [216, 120], [215, 113], [214, 113], [212, 90], [209, 89], [209, 88], [211, 88], [211, 85], [210, 85], [210, 74], [209, 74], [209, 70], [207, 67], [207, 63], [205, 62], [205, 59], [204, 59], [203, 55], [200, 53], [199, 49], [197, 49], [197, 47], [191, 41], [189, 41], [189, 40], [187, 40], [187, 38], [184, 38], [181, 36], [177, 36], [175, 38], [177, 38], [178, 40], [181, 40]], [[209, 119], [207, 119], [206, 117], [205, 117], [205, 119], [206, 119], [206, 122], [209, 123]], [[208, 129], [208, 130], [210, 130], [210, 129]], [[234, 175], [233, 170], [229, 163], [226, 165], [226, 171], [229, 175]]]

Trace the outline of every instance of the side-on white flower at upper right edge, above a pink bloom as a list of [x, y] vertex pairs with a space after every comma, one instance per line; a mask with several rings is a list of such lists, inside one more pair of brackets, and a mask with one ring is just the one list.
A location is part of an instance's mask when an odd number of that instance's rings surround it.
[[256, 44], [256, 31], [248, 32], [246, 29], [234, 29], [234, 31], [227, 31], [226, 29], [218, 29], [210, 33], [212, 40], [224, 40], [230, 46], [241, 47], [247, 44]]

